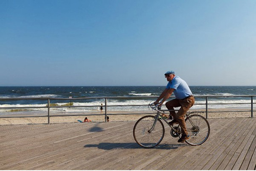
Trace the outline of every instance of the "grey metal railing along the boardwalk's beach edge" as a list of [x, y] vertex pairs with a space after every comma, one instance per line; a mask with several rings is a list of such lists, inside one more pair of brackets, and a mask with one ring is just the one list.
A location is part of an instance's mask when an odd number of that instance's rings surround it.
[[[232, 96], [194, 96], [195, 98], [205, 98], [205, 103], [195, 103], [194, 105], [205, 105], [205, 113], [206, 113], [206, 119], [208, 118], [208, 113], [218, 113], [218, 112], [250, 112], [251, 116], [253, 117], [253, 112], [255, 112], [253, 110], [253, 104], [256, 104], [253, 102], [253, 97], [255, 97], [256, 95], [232, 95]], [[209, 99], [210, 98], [223, 98], [223, 97], [246, 97], [250, 100], [250, 102], [243, 102], [243, 103], [209, 103]], [[47, 101], [47, 105], [46, 106], [16, 106], [16, 107], [0, 107], [0, 110], [2, 109], [47, 109], [48, 114], [47, 115], [42, 115], [42, 116], [1, 116], [0, 118], [23, 118], [23, 117], [48, 117], [48, 124], [50, 124], [50, 117], [54, 117], [54, 116], [84, 116], [82, 114], [78, 114], [78, 115], [51, 115], [51, 108], [91, 108], [91, 107], [100, 107], [101, 105], [63, 105], [63, 106], [51, 106], [51, 101], [52, 100], [66, 100], [66, 101], [74, 101], [74, 100], [91, 100], [91, 99], [104, 99], [104, 115], [105, 116], [105, 121], [107, 118], [108, 114], [108, 108], [109, 107], [117, 107], [117, 106], [148, 106], [148, 104], [129, 104], [129, 105], [108, 105], [108, 99], [138, 99], [138, 98], [142, 98], [142, 99], [147, 99], [147, 98], [151, 98], [151, 99], [156, 99], [156, 96], [135, 96], [135, 97], [84, 97], [84, 98], [50, 98], [50, 97], [41, 97], [41, 98], [0, 98], [0, 102], [1, 101], [10, 101], [10, 100], [45, 100]], [[174, 98], [173, 96], [170, 98]], [[209, 109], [209, 105], [227, 105], [227, 104], [250, 104], [250, 110], [239, 110], [239, 111], [208, 111]], [[204, 109], [204, 108], [202, 108]], [[164, 111], [168, 111], [168, 110], [164, 110]], [[95, 115], [95, 114], [92, 114]], [[99, 114], [97, 114], [99, 115]], [[111, 114], [114, 115], [114, 114]], [[118, 115], [118, 114], [116, 114]], [[129, 115], [129, 114], [126, 114]], [[133, 115], [133, 114], [130, 114]], [[87, 114], [88, 116], [88, 114]]]

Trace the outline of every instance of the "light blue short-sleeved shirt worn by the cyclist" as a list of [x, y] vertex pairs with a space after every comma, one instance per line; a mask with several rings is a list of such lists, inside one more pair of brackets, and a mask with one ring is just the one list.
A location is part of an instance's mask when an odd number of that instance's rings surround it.
[[187, 83], [178, 76], [175, 76], [172, 81], [168, 82], [166, 89], [175, 89], [175, 97], [180, 100], [193, 95]]

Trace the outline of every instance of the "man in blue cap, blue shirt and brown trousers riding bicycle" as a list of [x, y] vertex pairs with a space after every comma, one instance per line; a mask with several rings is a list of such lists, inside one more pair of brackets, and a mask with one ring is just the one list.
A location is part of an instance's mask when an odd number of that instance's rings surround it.
[[[165, 106], [168, 110], [172, 110], [170, 111], [170, 116], [173, 116], [173, 120], [170, 121], [169, 124], [179, 123], [181, 126], [182, 136], [178, 140], [178, 142], [184, 142], [185, 140], [189, 139], [189, 135], [187, 133], [185, 124], [185, 114], [194, 105], [195, 98], [193, 97], [193, 94], [189, 89], [187, 83], [179, 76], [175, 76], [174, 71], [167, 71], [164, 75], [168, 81], [168, 84], [165, 90], [154, 102], [154, 104], [159, 104], [161, 106], [163, 102], [167, 100], [170, 97], [170, 95], [172, 95], [172, 93], [175, 94], [176, 98], [166, 102]], [[161, 99], [162, 101], [159, 102]], [[174, 108], [177, 107], [181, 108], [176, 114]]]

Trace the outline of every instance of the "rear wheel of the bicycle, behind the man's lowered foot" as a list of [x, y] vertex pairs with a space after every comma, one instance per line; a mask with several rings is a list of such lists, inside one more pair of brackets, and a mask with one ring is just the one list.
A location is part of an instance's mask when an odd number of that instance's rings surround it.
[[186, 143], [190, 145], [203, 144], [210, 135], [210, 125], [201, 115], [191, 115], [185, 119], [186, 128], [190, 138]]

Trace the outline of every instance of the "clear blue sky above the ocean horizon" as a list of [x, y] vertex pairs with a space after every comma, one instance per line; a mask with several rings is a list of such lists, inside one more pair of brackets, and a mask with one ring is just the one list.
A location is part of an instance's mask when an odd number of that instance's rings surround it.
[[256, 86], [256, 1], [1, 0], [0, 86]]

